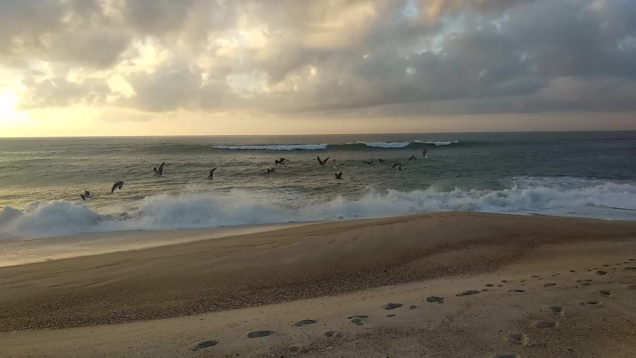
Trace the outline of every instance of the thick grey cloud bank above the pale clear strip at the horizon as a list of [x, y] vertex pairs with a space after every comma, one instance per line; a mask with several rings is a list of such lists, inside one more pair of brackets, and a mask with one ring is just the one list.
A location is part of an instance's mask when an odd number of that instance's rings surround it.
[[[631, 0], [0, 0], [5, 66], [108, 70], [149, 39], [174, 58], [123, 73], [134, 96], [114, 103], [382, 115], [636, 110]], [[236, 75], [253, 83], [234, 87]], [[25, 85], [27, 107], [113, 96], [94, 78]]]

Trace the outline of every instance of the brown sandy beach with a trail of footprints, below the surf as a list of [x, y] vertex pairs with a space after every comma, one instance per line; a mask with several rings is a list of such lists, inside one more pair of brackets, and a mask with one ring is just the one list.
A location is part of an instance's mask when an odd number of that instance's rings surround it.
[[435, 213], [179, 240], [0, 268], [0, 356], [636, 356], [636, 222]]

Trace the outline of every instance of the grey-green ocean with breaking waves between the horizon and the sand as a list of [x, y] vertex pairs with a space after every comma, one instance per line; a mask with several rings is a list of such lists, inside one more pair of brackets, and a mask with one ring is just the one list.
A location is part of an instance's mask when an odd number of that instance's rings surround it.
[[0, 138], [0, 208], [0, 240], [432, 211], [636, 220], [636, 132]]

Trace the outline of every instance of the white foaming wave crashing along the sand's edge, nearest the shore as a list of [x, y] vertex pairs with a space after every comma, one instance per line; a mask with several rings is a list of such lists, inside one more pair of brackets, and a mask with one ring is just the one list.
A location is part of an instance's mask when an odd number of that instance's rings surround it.
[[227, 195], [150, 196], [137, 208], [103, 214], [86, 204], [39, 201], [0, 210], [0, 240], [97, 231], [181, 229], [280, 222], [388, 217], [434, 211], [543, 213], [636, 220], [636, 185], [577, 178], [515, 178], [507, 189], [368, 192], [357, 199], [292, 199], [275, 203], [235, 190]]

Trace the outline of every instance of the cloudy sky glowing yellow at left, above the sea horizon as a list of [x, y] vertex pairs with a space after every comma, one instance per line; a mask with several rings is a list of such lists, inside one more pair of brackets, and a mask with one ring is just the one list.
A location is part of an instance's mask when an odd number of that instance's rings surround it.
[[0, 0], [0, 137], [636, 129], [633, 0]]

